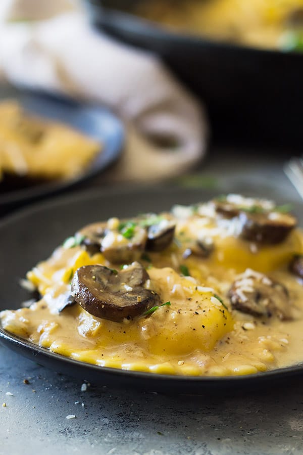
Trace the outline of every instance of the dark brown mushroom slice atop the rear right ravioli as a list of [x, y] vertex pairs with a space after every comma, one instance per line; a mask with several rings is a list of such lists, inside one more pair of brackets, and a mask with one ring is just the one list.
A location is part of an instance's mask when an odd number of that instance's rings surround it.
[[265, 212], [239, 214], [242, 230], [240, 237], [249, 242], [274, 245], [286, 239], [296, 226], [289, 213]]

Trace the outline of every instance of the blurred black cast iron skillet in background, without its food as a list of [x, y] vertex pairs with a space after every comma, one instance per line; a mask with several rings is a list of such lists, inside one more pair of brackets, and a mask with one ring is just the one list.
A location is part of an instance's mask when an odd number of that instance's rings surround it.
[[117, 2], [86, 3], [95, 27], [162, 57], [207, 106], [215, 139], [295, 147], [302, 143], [302, 54], [173, 33], [101, 6]]

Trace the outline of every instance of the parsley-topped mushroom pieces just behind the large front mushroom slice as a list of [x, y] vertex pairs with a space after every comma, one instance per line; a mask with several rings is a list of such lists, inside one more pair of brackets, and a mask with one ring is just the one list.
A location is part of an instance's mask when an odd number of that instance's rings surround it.
[[[128, 233], [127, 223], [131, 226]], [[82, 229], [80, 234], [84, 236], [82, 245], [89, 254], [101, 251], [107, 260], [120, 264], [139, 259], [147, 240], [146, 229], [132, 221], [121, 221], [115, 228], [109, 227], [107, 222], [94, 223]]]

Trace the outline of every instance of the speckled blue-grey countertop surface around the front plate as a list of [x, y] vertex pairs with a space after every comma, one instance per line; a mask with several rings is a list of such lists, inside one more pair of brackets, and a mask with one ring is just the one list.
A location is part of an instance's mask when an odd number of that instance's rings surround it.
[[[299, 203], [281, 170], [285, 157], [218, 149], [203, 172], [226, 192], [258, 187]], [[0, 345], [0, 454], [303, 453], [300, 380], [198, 397], [81, 386]]]

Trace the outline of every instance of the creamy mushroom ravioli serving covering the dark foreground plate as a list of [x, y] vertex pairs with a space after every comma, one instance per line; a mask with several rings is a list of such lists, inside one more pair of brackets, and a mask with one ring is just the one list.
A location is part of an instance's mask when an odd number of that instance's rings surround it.
[[303, 235], [289, 206], [220, 196], [90, 224], [27, 273], [5, 330], [100, 367], [246, 375], [303, 361]]

